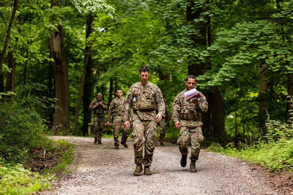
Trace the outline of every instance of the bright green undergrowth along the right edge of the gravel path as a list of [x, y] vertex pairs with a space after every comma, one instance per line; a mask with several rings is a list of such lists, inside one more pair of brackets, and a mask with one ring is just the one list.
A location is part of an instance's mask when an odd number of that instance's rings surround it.
[[[290, 103], [293, 104], [292, 97]], [[212, 143], [208, 150], [262, 164], [272, 171], [291, 169], [293, 167], [293, 122], [282, 123], [271, 120], [269, 114], [267, 116], [267, 134], [263, 136], [258, 134], [251, 139], [253, 141], [250, 143], [239, 142], [237, 146], [232, 142], [226, 147]]]

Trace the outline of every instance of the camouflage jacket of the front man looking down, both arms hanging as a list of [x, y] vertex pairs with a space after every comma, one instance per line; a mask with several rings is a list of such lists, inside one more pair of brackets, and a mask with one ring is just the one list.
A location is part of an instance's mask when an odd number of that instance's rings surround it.
[[[133, 101], [141, 99], [144, 97], [146, 100], [152, 99], [154, 100], [154, 105], [151, 105], [152, 109], [144, 109], [140, 108], [138, 110], [133, 111], [132, 120], [154, 120], [156, 121], [156, 106], [158, 107], [158, 113], [165, 117], [165, 103], [163, 100], [163, 95], [158, 86], [151, 82], [147, 82], [143, 89], [140, 87], [140, 83], [137, 82], [133, 84], [127, 92], [126, 95], [126, 106], [124, 110], [124, 122], [129, 121], [131, 115], [131, 108], [133, 105]], [[146, 102], [149, 104], [150, 101]], [[141, 100], [142, 107], [144, 106], [143, 100]]]

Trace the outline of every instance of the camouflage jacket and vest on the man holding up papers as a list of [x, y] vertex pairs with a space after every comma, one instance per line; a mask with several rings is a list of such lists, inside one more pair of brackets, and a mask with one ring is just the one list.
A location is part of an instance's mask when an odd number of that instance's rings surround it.
[[206, 97], [199, 92], [202, 98], [197, 105], [194, 105], [193, 103], [185, 101], [184, 92], [186, 92], [186, 89], [180, 92], [174, 99], [172, 120], [175, 123], [181, 118], [181, 126], [196, 127], [202, 125], [201, 115], [207, 112], [208, 108]]

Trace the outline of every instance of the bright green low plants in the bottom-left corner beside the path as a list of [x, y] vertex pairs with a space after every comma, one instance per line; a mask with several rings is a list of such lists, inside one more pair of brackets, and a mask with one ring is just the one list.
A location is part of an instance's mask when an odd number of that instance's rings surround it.
[[37, 172], [31, 172], [17, 164], [12, 167], [0, 165], [0, 194], [25, 195], [33, 191], [41, 191], [50, 187], [49, 180], [54, 176], [45, 177]]

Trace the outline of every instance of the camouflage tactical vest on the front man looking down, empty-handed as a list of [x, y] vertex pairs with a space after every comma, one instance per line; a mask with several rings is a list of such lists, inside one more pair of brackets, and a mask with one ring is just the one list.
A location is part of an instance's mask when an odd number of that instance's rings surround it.
[[[136, 83], [136, 85], [139, 85], [139, 82]], [[141, 86], [140, 86], [141, 87]], [[155, 105], [155, 94], [153, 94], [153, 91], [151, 90], [153, 88], [153, 84], [150, 83], [150, 86], [144, 86], [144, 88], [141, 90], [140, 87], [136, 92], [133, 93], [133, 98], [132, 99], [132, 106], [133, 110], [139, 110], [139, 109], [150, 109], [150, 110], [155, 110], [156, 105]]]

